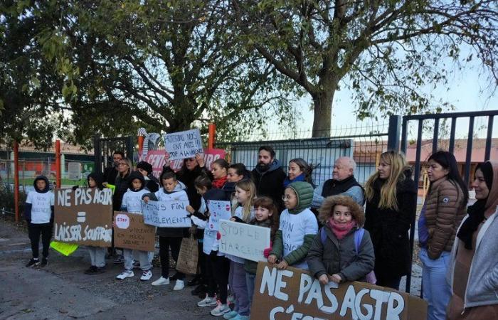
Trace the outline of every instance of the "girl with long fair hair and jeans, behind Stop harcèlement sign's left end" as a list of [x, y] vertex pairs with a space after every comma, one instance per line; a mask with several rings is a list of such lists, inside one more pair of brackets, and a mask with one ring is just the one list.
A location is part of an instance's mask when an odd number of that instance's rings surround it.
[[[235, 185], [237, 206], [235, 214], [230, 219], [238, 223], [249, 223], [254, 218], [253, 202], [256, 197], [256, 186], [253, 181], [243, 180]], [[225, 314], [225, 319], [249, 319], [248, 287], [245, 283], [244, 259], [233, 255], [226, 255], [230, 262], [228, 284], [235, 297], [235, 308]]]

